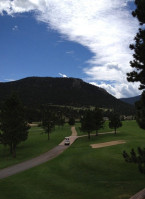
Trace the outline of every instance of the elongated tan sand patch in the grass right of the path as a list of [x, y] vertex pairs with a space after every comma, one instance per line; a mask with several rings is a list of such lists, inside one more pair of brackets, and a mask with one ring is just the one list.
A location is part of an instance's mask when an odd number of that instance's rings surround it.
[[99, 144], [91, 144], [90, 146], [93, 149], [97, 149], [97, 148], [102, 148], [102, 147], [107, 147], [107, 146], [113, 146], [113, 145], [118, 145], [118, 144], [124, 144], [124, 143], [126, 143], [125, 140], [117, 140], [117, 141], [104, 142], [104, 143], [99, 143]]

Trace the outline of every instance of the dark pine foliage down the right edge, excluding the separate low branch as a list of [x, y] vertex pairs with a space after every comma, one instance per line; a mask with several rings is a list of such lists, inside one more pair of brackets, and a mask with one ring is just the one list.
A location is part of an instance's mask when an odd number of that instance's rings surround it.
[[[135, 0], [136, 9], [132, 15], [140, 22], [139, 31], [135, 37], [135, 44], [130, 48], [134, 51], [133, 61], [130, 62], [134, 71], [127, 73], [127, 79], [130, 82], [140, 82], [139, 89], [145, 89], [145, 0]], [[141, 100], [136, 104], [136, 118], [139, 126], [145, 129], [145, 91], [142, 93]]]

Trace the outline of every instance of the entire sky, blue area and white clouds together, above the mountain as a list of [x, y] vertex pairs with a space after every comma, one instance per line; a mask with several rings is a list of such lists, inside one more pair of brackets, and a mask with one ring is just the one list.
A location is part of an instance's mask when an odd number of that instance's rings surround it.
[[0, 82], [74, 77], [117, 98], [139, 95], [126, 80], [134, 9], [133, 0], [0, 0]]

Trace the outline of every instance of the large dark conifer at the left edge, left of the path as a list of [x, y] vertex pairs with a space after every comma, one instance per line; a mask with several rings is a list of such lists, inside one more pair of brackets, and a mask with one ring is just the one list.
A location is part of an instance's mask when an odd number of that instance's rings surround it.
[[13, 157], [16, 157], [16, 146], [27, 139], [29, 128], [24, 108], [16, 94], [13, 94], [3, 104], [0, 124], [0, 142], [9, 145]]

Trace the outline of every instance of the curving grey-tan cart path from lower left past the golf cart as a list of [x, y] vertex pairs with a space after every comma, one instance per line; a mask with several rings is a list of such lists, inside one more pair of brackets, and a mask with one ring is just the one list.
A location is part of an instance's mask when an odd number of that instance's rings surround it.
[[[71, 131], [72, 131], [72, 136], [70, 136], [70, 145], [77, 139], [77, 132], [75, 130], [75, 127], [72, 127]], [[64, 141], [63, 141], [58, 146], [54, 147], [50, 151], [48, 151], [36, 158], [27, 160], [27, 161], [19, 163], [19, 164], [15, 164], [15, 165], [7, 167], [5, 169], [1, 169], [0, 170], [0, 179], [9, 177], [9, 176], [19, 173], [21, 171], [25, 171], [27, 169], [30, 169], [32, 167], [38, 166], [42, 163], [45, 163], [45, 162], [57, 157], [68, 147], [69, 146], [64, 145]]]

